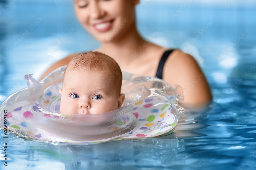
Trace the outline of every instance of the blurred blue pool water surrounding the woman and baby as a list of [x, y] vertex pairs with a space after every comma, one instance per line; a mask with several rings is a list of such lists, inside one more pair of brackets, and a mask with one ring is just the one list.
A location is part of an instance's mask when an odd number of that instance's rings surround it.
[[[98, 47], [76, 20], [72, 2], [58, 2], [15, 1], [1, 10], [0, 102], [26, 87], [25, 74], [38, 79], [69, 53]], [[175, 134], [143, 140], [85, 146], [9, 134], [8, 167], [0, 132], [0, 169], [256, 169], [256, 4], [236, 1], [226, 8], [229, 1], [191, 1], [173, 15], [185, 2], [142, 1], [138, 29], [145, 38], [196, 58], [214, 97], [209, 107], [186, 108]], [[0, 1], [1, 9], [9, 3]], [[62, 39], [70, 28], [74, 32]], [[157, 30], [161, 33], [152, 38]], [[54, 48], [59, 40], [62, 44]]]

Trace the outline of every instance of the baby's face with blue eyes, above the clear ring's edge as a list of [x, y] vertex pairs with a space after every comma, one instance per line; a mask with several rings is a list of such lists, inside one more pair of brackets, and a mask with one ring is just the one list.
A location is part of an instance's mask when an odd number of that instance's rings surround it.
[[100, 114], [119, 109], [124, 94], [117, 94], [111, 74], [88, 71], [65, 73], [61, 94], [61, 114]]

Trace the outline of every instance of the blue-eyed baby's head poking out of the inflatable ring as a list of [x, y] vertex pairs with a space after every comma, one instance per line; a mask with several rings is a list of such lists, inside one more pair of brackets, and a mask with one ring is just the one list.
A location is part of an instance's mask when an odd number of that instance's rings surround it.
[[100, 52], [88, 52], [73, 58], [64, 72], [61, 114], [100, 114], [119, 109], [122, 72], [116, 61]]

